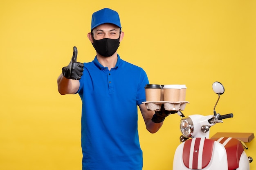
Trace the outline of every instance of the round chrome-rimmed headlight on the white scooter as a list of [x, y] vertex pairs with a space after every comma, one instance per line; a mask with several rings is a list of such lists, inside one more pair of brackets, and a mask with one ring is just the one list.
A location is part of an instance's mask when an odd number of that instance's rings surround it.
[[184, 137], [191, 137], [194, 131], [194, 125], [189, 117], [185, 117], [180, 121], [180, 131]]

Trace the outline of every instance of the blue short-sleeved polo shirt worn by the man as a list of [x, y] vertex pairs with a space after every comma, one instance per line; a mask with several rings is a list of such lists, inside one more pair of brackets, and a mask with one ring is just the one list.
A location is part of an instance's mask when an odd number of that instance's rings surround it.
[[146, 72], [119, 55], [108, 70], [95, 57], [79, 82], [83, 170], [141, 170], [137, 105], [146, 101]]

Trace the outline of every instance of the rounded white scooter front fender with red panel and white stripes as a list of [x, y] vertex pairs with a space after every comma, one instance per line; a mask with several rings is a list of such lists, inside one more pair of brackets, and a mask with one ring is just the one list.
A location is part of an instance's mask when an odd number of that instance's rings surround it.
[[211, 139], [193, 138], [175, 150], [173, 170], [228, 170], [225, 147]]

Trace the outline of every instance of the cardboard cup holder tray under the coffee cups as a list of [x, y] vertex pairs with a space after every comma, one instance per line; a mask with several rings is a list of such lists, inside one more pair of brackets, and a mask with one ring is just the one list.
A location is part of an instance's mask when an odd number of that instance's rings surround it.
[[178, 102], [169, 102], [169, 101], [146, 101], [146, 108], [150, 111], [159, 111], [162, 104], [164, 104], [164, 109], [168, 111], [180, 111], [184, 110], [188, 101], [178, 101]]

